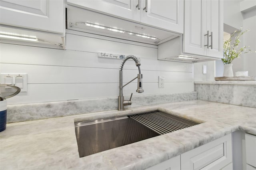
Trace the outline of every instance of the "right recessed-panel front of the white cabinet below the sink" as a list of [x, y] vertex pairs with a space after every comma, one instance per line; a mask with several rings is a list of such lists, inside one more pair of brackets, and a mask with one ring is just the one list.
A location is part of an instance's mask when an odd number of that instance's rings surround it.
[[181, 154], [182, 170], [220, 169], [231, 162], [231, 134]]

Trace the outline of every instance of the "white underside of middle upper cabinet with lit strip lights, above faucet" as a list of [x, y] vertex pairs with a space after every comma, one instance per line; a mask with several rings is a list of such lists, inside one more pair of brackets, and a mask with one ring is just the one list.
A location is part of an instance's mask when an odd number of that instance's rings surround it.
[[122, 20], [82, 8], [67, 6], [67, 28], [80, 32], [158, 45], [180, 34]]

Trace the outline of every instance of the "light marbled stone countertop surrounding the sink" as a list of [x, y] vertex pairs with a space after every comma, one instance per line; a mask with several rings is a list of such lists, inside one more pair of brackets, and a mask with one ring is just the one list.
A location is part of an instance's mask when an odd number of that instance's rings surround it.
[[[79, 158], [74, 121], [154, 109], [204, 123]], [[0, 169], [142, 170], [236, 130], [256, 134], [256, 108], [194, 100], [10, 123], [0, 133]]]

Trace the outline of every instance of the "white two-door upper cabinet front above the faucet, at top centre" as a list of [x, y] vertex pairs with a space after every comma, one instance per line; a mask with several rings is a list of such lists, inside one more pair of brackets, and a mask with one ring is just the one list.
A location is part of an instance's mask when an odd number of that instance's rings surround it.
[[183, 33], [184, 0], [67, 0], [67, 3], [148, 26]]

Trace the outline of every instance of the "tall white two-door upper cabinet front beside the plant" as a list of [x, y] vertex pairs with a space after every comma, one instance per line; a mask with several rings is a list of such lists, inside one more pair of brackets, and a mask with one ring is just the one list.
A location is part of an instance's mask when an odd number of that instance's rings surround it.
[[223, 1], [185, 0], [183, 52], [223, 57]]

